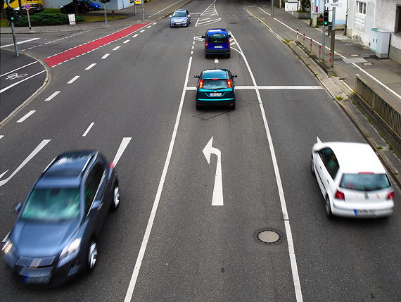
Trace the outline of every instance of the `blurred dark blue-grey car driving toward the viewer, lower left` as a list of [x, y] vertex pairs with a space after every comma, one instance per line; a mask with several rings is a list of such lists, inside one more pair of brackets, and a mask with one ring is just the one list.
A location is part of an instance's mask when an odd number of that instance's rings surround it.
[[93, 270], [103, 221], [119, 204], [117, 175], [98, 151], [63, 153], [15, 208], [4, 260], [23, 283], [60, 284]]

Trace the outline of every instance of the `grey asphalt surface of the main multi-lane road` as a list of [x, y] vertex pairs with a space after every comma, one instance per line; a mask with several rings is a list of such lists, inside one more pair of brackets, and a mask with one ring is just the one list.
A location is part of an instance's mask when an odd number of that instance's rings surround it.
[[[103, 227], [96, 270], [41, 290], [16, 282], [4, 265], [2, 300], [399, 301], [400, 212], [328, 220], [310, 172], [317, 136], [364, 142], [352, 122], [237, 1], [184, 8], [189, 27], [163, 19], [51, 68], [46, 88], [0, 127], [0, 175], [8, 170], [0, 180], [9, 177], [0, 187], [4, 236], [13, 206], [58, 153], [99, 149], [111, 161], [131, 138], [116, 166], [122, 203]], [[212, 27], [231, 32], [231, 58], [205, 59], [200, 35]], [[206, 68], [238, 75], [235, 111], [196, 110], [193, 75]], [[223, 198], [214, 206], [219, 165]], [[279, 242], [257, 241], [260, 229], [280, 234]]]

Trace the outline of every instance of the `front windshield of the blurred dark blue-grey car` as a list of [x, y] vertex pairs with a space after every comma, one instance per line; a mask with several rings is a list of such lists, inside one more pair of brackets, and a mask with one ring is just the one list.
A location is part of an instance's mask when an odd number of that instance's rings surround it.
[[70, 220], [79, 215], [79, 188], [34, 189], [21, 217], [33, 220]]

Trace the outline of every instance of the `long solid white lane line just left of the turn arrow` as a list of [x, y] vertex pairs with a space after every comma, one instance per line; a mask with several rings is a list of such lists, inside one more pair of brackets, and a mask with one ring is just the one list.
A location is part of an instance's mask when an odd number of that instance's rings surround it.
[[153, 208], [151, 210], [151, 215], [149, 216], [148, 225], [146, 226], [146, 231], [145, 231], [145, 234], [144, 234], [144, 239], [142, 239], [141, 248], [139, 250], [138, 258], [136, 258], [134, 272], [132, 272], [132, 277], [131, 277], [131, 280], [129, 281], [129, 287], [127, 289], [127, 294], [125, 295], [124, 302], [130, 302], [131, 301], [132, 294], [134, 293], [136, 279], [138, 279], [139, 270], [141, 269], [142, 260], [144, 259], [144, 256], [145, 256], [146, 246], [148, 245], [148, 240], [149, 240], [149, 237], [151, 236], [151, 230], [152, 230], [152, 227], [153, 227], [153, 221], [155, 220], [155, 215], [156, 215], [156, 212], [158, 210], [160, 196], [161, 196], [162, 191], [163, 191], [163, 186], [164, 186], [164, 183], [165, 183], [167, 170], [168, 170], [168, 167], [170, 165], [170, 159], [171, 159], [171, 156], [172, 156], [172, 149], [174, 148], [174, 141], [175, 141], [175, 138], [177, 137], [179, 120], [181, 118], [181, 113], [182, 113], [182, 106], [184, 105], [186, 85], [187, 85], [188, 79], [189, 79], [189, 71], [191, 70], [191, 63], [192, 63], [192, 57], [189, 57], [188, 69], [186, 70], [184, 87], [182, 88], [181, 100], [179, 101], [179, 108], [178, 108], [177, 118], [175, 120], [174, 130], [172, 131], [172, 137], [171, 137], [170, 146], [169, 146], [169, 149], [168, 149], [168, 152], [167, 152], [167, 158], [166, 158], [165, 165], [164, 165], [164, 168], [163, 168], [162, 176], [160, 177], [158, 191], [157, 191], [156, 196], [155, 196], [155, 201], [153, 202]]

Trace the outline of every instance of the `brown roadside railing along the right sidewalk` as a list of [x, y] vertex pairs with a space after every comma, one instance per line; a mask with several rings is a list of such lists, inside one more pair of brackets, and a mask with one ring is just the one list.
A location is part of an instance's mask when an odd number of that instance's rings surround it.
[[370, 82], [357, 74], [355, 81], [355, 94], [369, 106], [391, 132], [401, 139], [401, 101], [395, 99], [378, 84]]

